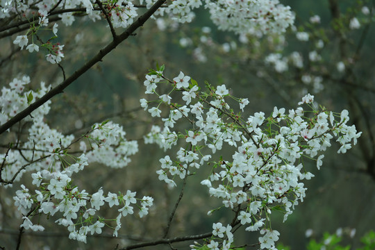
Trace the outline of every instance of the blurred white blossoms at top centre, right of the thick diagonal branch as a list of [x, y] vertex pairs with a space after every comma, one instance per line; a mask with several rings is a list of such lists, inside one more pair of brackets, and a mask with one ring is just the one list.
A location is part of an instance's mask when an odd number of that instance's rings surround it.
[[[142, 0], [149, 8], [155, 0]], [[191, 22], [195, 8], [204, 6], [210, 12], [213, 22], [223, 31], [238, 34], [283, 33], [294, 23], [294, 13], [289, 6], [283, 6], [278, 0], [175, 0], [160, 8], [158, 15], [166, 15], [176, 22]]]

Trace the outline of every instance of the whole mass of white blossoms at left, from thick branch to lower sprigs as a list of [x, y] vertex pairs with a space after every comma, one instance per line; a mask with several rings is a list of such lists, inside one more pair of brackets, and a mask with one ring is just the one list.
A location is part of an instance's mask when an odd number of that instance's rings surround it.
[[[19, 110], [24, 110], [36, 99], [48, 92], [42, 82], [38, 91], [27, 90], [30, 78], [22, 76], [13, 79], [8, 88], [3, 87], [0, 97], [0, 117], [3, 124], [16, 115]], [[19, 128], [24, 128], [26, 140], [17, 139], [9, 145], [8, 150], [0, 155], [1, 184], [7, 187], [19, 181], [23, 174], [31, 172], [34, 185], [33, 190], [28, 190], [25, 185], [17, 190], [15, 206], [22, 214], [21, 227], [33, 231], [43, 231], [44, 227], [38, 222], [42, 215], [57, 217], [56, 223], [66, 226], [70, 232], [69, 238], [85, 242], [89, 233], [101, 233], [103, 226], [114, 229], [114, 235], [121, 228], [121, 218], [134, 213], [133, 207], [139, 208], [138, 215], [143, 217], [148, 214], [152, 205], [151, 197], [135, 198], [135, 192], [128, 190], [126, 194], [103, 194], [98, 192], [89, 194], [79, 190], [73, 184], [72, 175], [82, 171], [89, 163], [102, 163], [108, 167], [125, 167], [130, 163], [129, 156], [138, 152], [138, 143], [128, 141], [122, 126], [113, 122], [94, 124], [91, 129], [75, 139], [73, 135], [63, 135], [50, 128], [44, 122], [44, 116], [49, 113], [49, 104], [31, 113], [31, 116], [22, 121]], [[11, 129], [10, 133], [22, 131]], [[79, 146], [75, 145], [80, 142]], [[81, 155], [75, 156], [69, 151], [81, 149]], [[76, 151], [76, 150], [74, 150]], [[116, 219], [105, 219], [99, 214], [101, 206], [118, 206], [119, 215]], [[111, 226], [110, 222], [116, 225]]]

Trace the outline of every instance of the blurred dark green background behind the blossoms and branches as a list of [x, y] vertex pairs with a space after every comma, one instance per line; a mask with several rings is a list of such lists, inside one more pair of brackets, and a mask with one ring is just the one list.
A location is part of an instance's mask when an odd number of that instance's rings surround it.
[[[282, 223], [283, 215], [274, 213], [272, 227], [281, 232], [279, 241], [293, 250], [306, 249], [310, 238], [319, 240], [324, 232], [335, 233], [338, 228], [344, 228], [345, 232], [353, 233], [355, 229], [355, 235], [346, 237], [345, 242], [352, 245], [351, 249], [356, 249], [360, 237], [375, 229], [374, 1], [282, 2], [296, 13], [294, 30], [283, 35], [239, 38], [217, 30], [203, 8], [191, 24], [177, 26], [162, 19], [149, 20], [103, 62], [55, 97], [47, 117], [51, 127], [79, 136], [94, 122], [112, 119], [124, 126], [128, 140], [138, 140], [140, 145], [140, 152], [132, 157], [128, 167], [112, 169], [90, 165], [85, 172], [76, 175], [76, 184], [88, 192], [95, 192], [100, 187], [106, 190], [105, 193], [130, 189], [139, 195], [154, 197], [155, 206], [144, 219], [126, 217], [122, 223], [124, 228], [119, 231], [120, 238], [110, 238], [112, 232], [108, 231], [108, 237], [88, 238], [88, 244], [68, 240], [65, 228], [53, 224], [54, 219], [49, 218], [51, 223], [46, 222], [44, 233], [25, 233], [22, 249], [115, 249], [117, 244], [124, 247], [131, 242], [163, 235], [181, 183], [175, 190], [169, 190], [158, 181], [158, 159], [165, 156], [165, 152], [142, 140], [142, 135], [148, 133], [153, 124], [158, 124], [139, 105], [139, 99], [144, 97], [144, 74], [155, 68], [156, 63], [165, 65], [169, 78], [182, 71], [199, 85], [204, 81], [213, 85], [226, 84], [236, 97], [249, 98], [245, 115], [259, 111], [270, 115], [274, 106], [294, 108], [307, 92], [314, 94], [315, 100], [328, 110], [349, 110], [351, 123], [363, 131], [358, 145], [344, 155], [339, 155], [338, 145], [333, 145], [326, 151], [320, 171], [314, 163], [307, 163], [315, 178], [306, 181], [306, 200], [285, 223]], [[363, 14], [363, 6], [369, 8], [369, 15]], [[310, 22], [314, 15], [319, 15], [319, 24]], [[358, 17], [361, 23], [356, 30], [349, 28], [353, 17]], [[297, 31], [309, 33], [310, 39], [299, 41]], [[105, 22], [92, 23], [85, 17], [78, 19], [72, 27], [61, 24], [59, 32], [58, 39], [65, 44], [63, 66], [68, 75], [111, 40]], [[324, 47], [316, 47], [319, 40]], [[1, 58], [14, 47], [11, 41], [0, 40]], [[271, 53], [288, 58], [293, 51], [303, 57], [303, 67], [288, 63], [288, 70], [277, 72], [272, 64], [265, 63]], [[309, 60], [310, 51], [317, 51], [322, 58]], [[338, 62], [344, 62], [344, 72], [338, 71]], [[60, 69], [51, 67], [40, 53], [22, 51], [4, 61], [2, 66], [1, 85], [8, 84], [17, 74], [31, 76], [31, 88], [38, 88], [40, 81], [56, 85], [63, 79]], [[306, 83], [301, 80], [306, 75], [317, 80]], [[172, 156], [174, 152], [167, 153]], [[219, 201], [210, 199], [206, 188], [200, 185], [209, 171], [208, 168], [199, 169], [198, 174], [203, 177], [188, 182], [172, 224], [171, 237], [206, 233], [212, 230], [213, 222], [231, 218], [226, 210], [211, 217], [206, 215], [208, 210], [220, 205]], [[22, 183], [31, 184], [27, 174]], [[17, 184], [7, 189], [0, 187], [0, 242], [6, 249], [15, 248], [21, 223], [17, 209], [12, 205], [12, 195], [18, 188]], [[113, 213], [110, 210], [102, 212], [108, 217]], [[112, 217], [115, 216], [113, 213]], [[308, 229], [313, 232], [310, 238], [306, 237]], [[256, 232], [239, 230], [238, 235], [238, 244], [258, 242]], [[191, 242], [174, 247], [188, 249], [189, 244]]]

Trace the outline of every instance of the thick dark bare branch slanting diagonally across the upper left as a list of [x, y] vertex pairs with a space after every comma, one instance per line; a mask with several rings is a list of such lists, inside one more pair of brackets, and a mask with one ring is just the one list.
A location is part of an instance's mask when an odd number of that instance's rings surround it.
[[106, 56], [108, 53], [110, 53], [110, 51], [113, 51], [113, 49], [115, 49], [117, 47], [117, 45], [119, 45], [121, 42], [126, 40], [130, 35], [132, 35], [133, 32], [135, 30], [137, 30], [137, 28], [142, 26], [144, 24], [144, 22], [146, 22], [147, 19], [149, 19], [151, 17], [151, 15], [153, 15], [154, 12], [156, 12], [156, 10], [158, 10], [158, 8], [160, 8], [160, 6], [162, 6], [162, 4], [165, 3], [165, 1], [167, 1], [167, 0], [158, 0], [146, 13], [144, 13], [144, 15], [139, 17], [133, 24], [131, 24], [131, 26], [126, 28], [126, 31], [124, 31], [122, 34], [118, 35], [117, 40], [114, 40], [113, 42], [110, 42], [110, 44], [108, 44], [105, 48], [101, 49], [99, 51], [99, 53], [97, 53], [96, 56], [94, 56], [91, 60], [89, 60], [88, 63], [85, 63], [85, 65], [83, 65], [83, 67], [81, 67], [81, 69], [78, 69], [76, 72], [74, 72], [74, 74], [72, 74], [72, 76], [69, 76], [69, 78], [67, 78], [65, 81], [63, 81], [63, 83], [60, 83], [58, 86], [56, 86], [56, 88], [53, 88], [47, 94], [44, 94], [43, 97], [41, 97], [40, 99], [38, 99], [34, 103], [31, 103], [31, 105], [28, 106], [28, 108], [22, 110], [20, 113], [15, 115], [15, 117], [12, 117], [12, 119], [10, 119], [8, 122], [1, 125], [0, 126], [0, 134], [4, 133], [9, 128], [11, 128], [13, 125], [15, 125], [17, 122], [21, 121], [26, 116], [30, 115], [31, 112], [33, 112], [33, 110], [42, 106], [44, 103], [49, 101], [49, 99], [56, 96], [56, 94], [62, 93], [63, 90], [65, 90], [65, 88], [67, 88], [67, 86], [69, 86], [74, 81], [76, 81], [76, 79], [78, 77], [82, 76], [85, 72], [88, 71], [88, 69], [90, 69], [92, 66], [94, 66], [99, 61], [101, 61], [104, 56]]

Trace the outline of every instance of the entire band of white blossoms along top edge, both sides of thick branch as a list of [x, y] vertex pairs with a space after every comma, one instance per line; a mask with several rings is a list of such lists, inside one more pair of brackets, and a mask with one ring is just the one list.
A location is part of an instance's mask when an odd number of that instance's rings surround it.
[[[0, 19], [12, 18], [16, 21], [27, 21], [29, 27], [26, 32], [17, 35], [13, 43], [21, 49], [26, 47], [30, 53], [38, 52], [40, 47], [44, 47], [47, 50], [46, 60], [55, 64], [60, 63], [64, 58], [64, 45], [53, 42], [57, 38], [58, 24], [49, 22], [51, 16], [57, 15], [63, 24], [72, 26], [76, 19], [75, 12], [78, 11], [87, 15], [92, 22], [107, 19], [114, 28], [127, 28], [138, 17], [140, 8], [144, 8], [143, 3], [146, 3], [146, 8], [151, 8], [156, 0], [117, 0], [99, 1], [99, 3], [90, 0], [65, 0], [58, 1], [58, 3], [51, 0], [1, 1]], [[278, 0], [166, 1], [165, 6], [159, 8], [153, 16], [166, 17], [176, 23], [192, 22], [195, 16], [194, 10], [203, 5], [220, 29], [242, 35], [283, 33], [294, 23], [294, 14], [290, 7], [283, 6]], [[85, 12], [80, 8], [83, 8]], [[17, 19], [13, 18], [14, 15]], [[50, 30], [53, 33], [47, 41], [43, 41], [40, 36], [40, 32], [44, 30]]]

